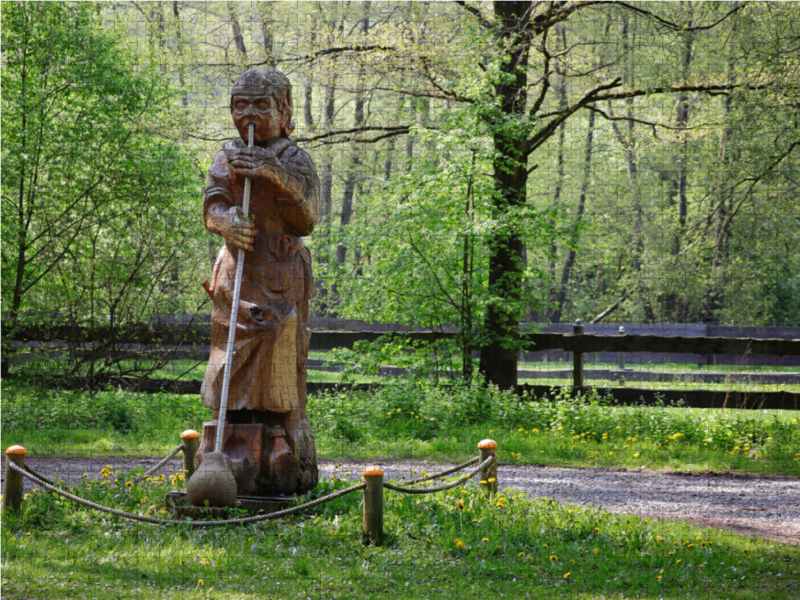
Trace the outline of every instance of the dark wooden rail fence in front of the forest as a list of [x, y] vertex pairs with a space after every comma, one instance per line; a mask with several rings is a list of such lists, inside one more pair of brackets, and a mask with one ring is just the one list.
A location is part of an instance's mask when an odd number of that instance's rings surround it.
[[[370, 325], [361, 322], [336, 320], [324, 322], [312, 320], [309, 325], [312, 327], [311, 349], [316, 351], [327, 351], [334, 348], [352, 348], [358, 341], [376, 341], [381, 336], [388, 333], [399, 333], [408, 338], [418, 341], [433, 342], [435, 340], [448, 339], [455, 337], [458, 333], [455, 328], [445, 328], [442, 331], [402, 330], [391, 325]], [[325, 327], [340, 327], [337, 330], [330, 330]], [[706, 333], [717, 335], [697, 335], [695, 331], [699, 327], [704, 327]], [[557, 328], [557, 331], [552, 331]], [[587, 327], [588, 328], [588, 327]], [[561, 352], [561, 357], [572, 362], [572, 386], [571, 393], [585, 390], [584, 364], [587, 356], [589, 357], [614, 357], [620, 359], [625, 356], [628, 362], [643, 362], [642, 357], [648, 358], [647, 362], [654, 364], [678, 362], [675, 356], [684, 357], [685, 362], [696, 364], [710, 364], [710, 357], [727, 357], [727, 364], [752, 365], [758, 364], [757, 358], [769, 359], [766, 364], [788, 366], [790, 364], [800, 364], [794, 362], [800, 360], [800, 328], [739, 328], [734, 329], [728, 326], [681, 326], [681, 325], [658, 325], [658, 326], [626, 326], [626, 333], [620, 335], [613, 327], [594, 327], [594, 331], [584, 330], [582, 324], [574, 326], [566, 324], [550, 325], [548, 329], [541, 333], [522, 333], [520, 340], [524, 350], [525, 358], [532, 358], [533, 354], [542, 355], [544, 353]], [[750, 329], [753, 337], [736, 337]], [[795, 331], [797, 330], [797, 331]], [[70, 330], [74, 332], [74, 329]], [[178, 341], [178, 332], [180, 341]], [[649, 333], [655, 331], [664, 335]], [[636, 332], [636, 334], [631, 334]], [[23, 339], [31, 340], [35, 338], [36, 332], [27, 332]], [[52, 331], [51, 331], [52, 333]], [[67, 333], [66, 331], [64, 332]], [[675, 335], [676, 333], [688, 333], [689, 335]], [[780, 337], [764, 337], [770, 333]], [[180, 323], [159, 323], [155, 328], [142, 329], [145, 335], [144, 343], [153, 344], [162, 349], [163, 345], [170, 344], [175, 340], [181, 344], [179, 356], [197, 356], [198, 353], [207, 356], [207, 344], [210, 341], [210, 327], [208, 323], [195, 322], [187, 332], [186, 328]], [[611, 334], [611, 335], [609, 335]], [[84, 336], [84, 343], [91, 343], [100, 334], [95, 332], [92, 335]], [[755, 337], [755, 336], [758, 337]], [[791, 337], [793, 336], [793, 337]], [[19, 338], [18, 338], [19, 339]], [[42, 339], [42, 338], [39, 338]], [[50, 339], [53, 339], [50, 337]], [[189, 347], [187, 342], [194, 343], [195, 346]], [[34, 342], [35, 343], [35, 342]], [[52, 344], [53, 342], [51, 342]], [[162, 345], [163, 344], [163, 345]], [[131, 352], [139, 352], [136, 344], [129, 344]], [[765, 364], [765, 363], [761, 363]], [[615, 379], [617, 375], [613, 371], [609, 372]], [[309, 392], [336, 387], [337, 384], [309, 384]], [[379, 384], [378, 384], [379, 385]], [[139, 389], [147, 390], [172, 390], [183, 393], [197, 393], [199, 382], [190, 381], [169, 381], [169, 380], [149, 380], [138, 384]], [[363, 386], [360, 386], [363, 387]], [[558, 386], [556, 386], [557, 388]], [[537, 396], [542, 396], [550, 391], [552, 386], [518, 386], [518, 392], [532, 391]], [[716, 392], [716, 391], [678, 391], [678, 390], [645, 390], [636, 388], [610, 387], [606, 393], [613, 395], [618, 402], [637, 403], [656, 403], [660, 401], [674, 402], [683, 401], [688, 406], [696, 407], [740, 407], [740, 408], [764, 408], [764, 409], [792, 409], [800, 410], [800, 394], [792, 392]]]

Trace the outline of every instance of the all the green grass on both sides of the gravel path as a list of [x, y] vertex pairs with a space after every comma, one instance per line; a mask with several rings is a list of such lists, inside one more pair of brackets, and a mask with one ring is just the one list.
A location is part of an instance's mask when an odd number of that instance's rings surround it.
[[[3, 448], [161, 456], [210, 418], [197, 396], [46, 390], [4, 382]], [[393, 379], [312, 396], [319, 454], [461, 460], [492, 437], [501, 463], [800, 474], [800, 415], [618, 406], [598, 393], [525, 398]], [[111, 473], [75, 492], [168, 518], [180, 478]], [[354, 481], [322, 481], [314, 495]], [[460, 504], [463, 503], [463, 506]], [[386, 543], [361, 542], [361, 493], [278, 522], [189, 530], [84, 510], [36, 490], [2, 526], [3, 597], [789, 599], [800, 548], [680, 522], [528, 499], [475, 483], [385, 493]]]

